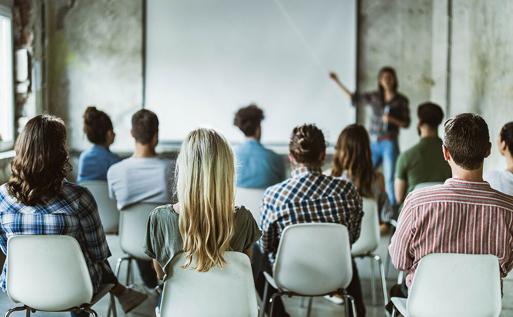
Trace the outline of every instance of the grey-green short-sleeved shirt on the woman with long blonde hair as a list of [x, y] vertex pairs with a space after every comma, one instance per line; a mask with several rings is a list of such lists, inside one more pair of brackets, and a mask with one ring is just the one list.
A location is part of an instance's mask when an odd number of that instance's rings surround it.
[[[173, 210], [171, 204], [168, 204], [155, 208], [150, 213], [146, 227], [143, 251], [152, 259], [156, 259], [166, 274], [171, 260], [184, 250], [179, 221], [179, 214]], [[243, 252], [260, 239], [262, 231], [244, 206], [235, 207], [234, 221], [230, 251]]]

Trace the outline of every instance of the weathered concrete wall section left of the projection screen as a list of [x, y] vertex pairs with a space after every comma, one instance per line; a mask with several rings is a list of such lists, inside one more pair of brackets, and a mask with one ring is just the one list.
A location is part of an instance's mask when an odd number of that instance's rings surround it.
[[112, 119], [112, 149], [132, 147], [130, 118], [142, 106], [142, 2], [47, 1], [49, 110], [65, 120], [69, 144], [90, 145], [82, 115], [95, 105]]

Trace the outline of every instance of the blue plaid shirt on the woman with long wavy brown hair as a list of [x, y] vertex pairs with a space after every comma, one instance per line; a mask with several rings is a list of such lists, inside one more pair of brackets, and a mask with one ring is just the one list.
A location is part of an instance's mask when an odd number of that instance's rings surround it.
[[[25, 206], [7, 193], [5, 184], [0, 186], [0, 248], [7, 254], [7, 239], [17, 234], [69, 235], [78, 241], [87, 266], [93, 291], [100, 290], [103, 261], [111, 255], [103, 231], [96, 202], [85, 187], [63, 182], [60, 193], [47, 204]], [[4, 264], [0, 285], [6, 292]]]

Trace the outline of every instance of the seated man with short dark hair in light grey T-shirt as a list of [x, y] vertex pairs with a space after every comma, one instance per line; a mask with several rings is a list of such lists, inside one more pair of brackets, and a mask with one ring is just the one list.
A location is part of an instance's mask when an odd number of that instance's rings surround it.
[[[135, 139], [133, 155], [112, 165], [107, 172], [110, 197], [117, 201], [120, 210], [141, 202], [170, 203], [171, 161], [155, 153], [159, 143], [159, 119], [150, 110], [139, 110], [132, 116], [130, 132]], [[144, 284], [148, 288], [157, 286], [151, 261], [136, 261]]]

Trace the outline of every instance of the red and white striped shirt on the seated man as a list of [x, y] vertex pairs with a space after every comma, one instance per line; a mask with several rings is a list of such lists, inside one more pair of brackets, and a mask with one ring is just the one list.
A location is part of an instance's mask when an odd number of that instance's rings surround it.
[[388, 250], [393, 265], [409, 271], [408, 289], [429, 253], [494, 254], [504, 278], [513, 268], [513, 196], [460, 179], [412, 191]]

